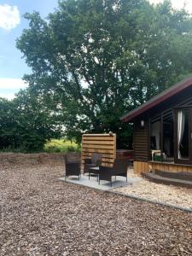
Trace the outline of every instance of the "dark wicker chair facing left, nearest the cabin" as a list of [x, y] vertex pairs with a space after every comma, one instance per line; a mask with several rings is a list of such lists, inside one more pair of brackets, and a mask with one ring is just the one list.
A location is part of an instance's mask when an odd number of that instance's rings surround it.
[[113, 162], [113, 167], [99, 166], [99, 184], [100, 180], [108, 180], [111, 182], [112, 186], [112, 177], [123, 176], [126, 177], [127, 182], [127, 169], [130, 165], [130, 161], [127, 159], [115, 159]]

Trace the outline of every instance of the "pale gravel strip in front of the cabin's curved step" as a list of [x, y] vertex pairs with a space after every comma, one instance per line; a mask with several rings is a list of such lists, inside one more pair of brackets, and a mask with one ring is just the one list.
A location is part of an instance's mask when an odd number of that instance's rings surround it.
[[161, 203], [192, 210], [192, 189], [152, 183], [141, 178], [139, 182], [133, 183], [131, 186], [129, 185], [113, 190], [124, 195], [134, 195], [142, 199], [159, 201]]

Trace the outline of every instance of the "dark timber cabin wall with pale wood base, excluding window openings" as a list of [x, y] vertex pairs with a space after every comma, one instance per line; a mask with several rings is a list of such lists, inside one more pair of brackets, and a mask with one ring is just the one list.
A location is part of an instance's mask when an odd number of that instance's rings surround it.
[[[177, 96], [171, 96], [164, 102], [160, 102], [149, 108], [145, 113], [138, 115], [131, 121], [134, 123], [133, 132], [133, 148], [134, 148], [134, 173], [141, 174], [142, 172], [147, 173], [150, 170], [161, 168], [162, 171], [167, 172], [192, 172], [192, 166], [186, 165], [172, 165], [166, 163], [153, 163], [151, 164], [151, 152], [150, 152], [150, 120], [152, 119], [166, 119], [172, 116], [173, 109], [178, 107], [189, 107], [192, 106], [192, 86], [181, 91]], [[141, 127], [141, 120], [144, 119], [145, 126]], [[174, 122], [174, 119], [173, 119]], [[161, 127], [161, 129], [163, 129]], [[162, 134], [163, 130], [161, 131]], [[174, 140], [173, 140], [174, 142]], [[161, 145], [163, 141], [161, 140]], [[147, 162], [150, 161], [149, 164]]]

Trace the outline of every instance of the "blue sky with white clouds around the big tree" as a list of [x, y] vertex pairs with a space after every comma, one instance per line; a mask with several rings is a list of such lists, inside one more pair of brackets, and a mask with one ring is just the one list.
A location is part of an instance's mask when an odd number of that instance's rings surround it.
[[[160, 3], [163, 0], [148, 0]], [[172, 0], [176, 9], [183, 8], [192, 13], [192, 0]], [[43, 18], [57, 8], [57, 0], [0, 0], [0, 97], [12, 99], [20, 89], [26, 88], [22, 77], [31, 73], [15, 40], [28, 23], [22, 17], [26, 12], [38, 11]]]

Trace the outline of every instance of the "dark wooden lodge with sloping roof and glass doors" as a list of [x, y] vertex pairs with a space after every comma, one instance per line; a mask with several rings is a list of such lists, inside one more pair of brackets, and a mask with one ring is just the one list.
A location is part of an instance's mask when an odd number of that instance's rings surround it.
[[192, 172], [192, 77], [125, 114], [133, 123], [134, 172]]

